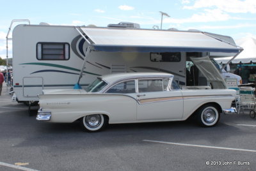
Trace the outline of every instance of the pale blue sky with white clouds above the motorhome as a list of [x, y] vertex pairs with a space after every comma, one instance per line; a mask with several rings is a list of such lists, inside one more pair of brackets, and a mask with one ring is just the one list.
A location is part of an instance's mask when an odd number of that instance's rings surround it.
[[[107, 26], [136, 22], [141, 28], [161, 25], [163, 29], [198, 29], [232, 36], [256, 38], [256, 0], [129, 0], [129, 1], [3, 1], [0, 11], [0, 57], [6, 58], [6, 34], [13, 19], [29, 19], [31, 24]], [[12, 33], [11, 33], [12, 34]], [[12, 42], [10, 42], [11, 44]], [[10, 45], [9, 57], [12, 57]]]

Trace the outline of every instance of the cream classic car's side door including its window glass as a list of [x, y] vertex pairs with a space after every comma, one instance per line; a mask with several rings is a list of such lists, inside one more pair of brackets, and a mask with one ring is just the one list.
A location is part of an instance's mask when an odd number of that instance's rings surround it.
[[175, 81], [171, 81], [166, 78], [138, 79], [137, 120], [182, 118], [182, 93]]

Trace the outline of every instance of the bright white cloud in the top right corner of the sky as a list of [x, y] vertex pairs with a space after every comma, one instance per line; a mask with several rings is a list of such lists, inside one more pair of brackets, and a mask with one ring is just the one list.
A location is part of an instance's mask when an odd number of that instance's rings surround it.
[[229, 13], [256, 13], [255, 0], [196, 0], [193, 6], [184, 6], [184, 9], [216, 7]]

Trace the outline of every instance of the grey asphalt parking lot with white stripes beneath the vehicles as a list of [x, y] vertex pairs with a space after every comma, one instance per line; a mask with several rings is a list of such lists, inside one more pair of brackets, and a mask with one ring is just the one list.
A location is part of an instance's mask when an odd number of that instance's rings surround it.
[[[35, 108], [36, 109], [36, 108]], [[221, 115], [193, 122], [116, 124], [99, 133], [78, 123], [38, 122], [0, 96], [0, 170], [255, 170], [256, 119]]]

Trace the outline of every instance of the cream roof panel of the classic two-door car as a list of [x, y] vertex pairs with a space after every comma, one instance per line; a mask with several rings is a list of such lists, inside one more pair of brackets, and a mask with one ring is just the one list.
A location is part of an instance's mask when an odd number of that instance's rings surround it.
[[113, 73], [109, 75], [102, 76], [102, 80], [111, 83], [117, 82], [119, 80], [128, 80], [133, 78], [162, 78], [162, 77], [172, 77], [170, 73], [163, 72], [136, 72], [136, 73]]

